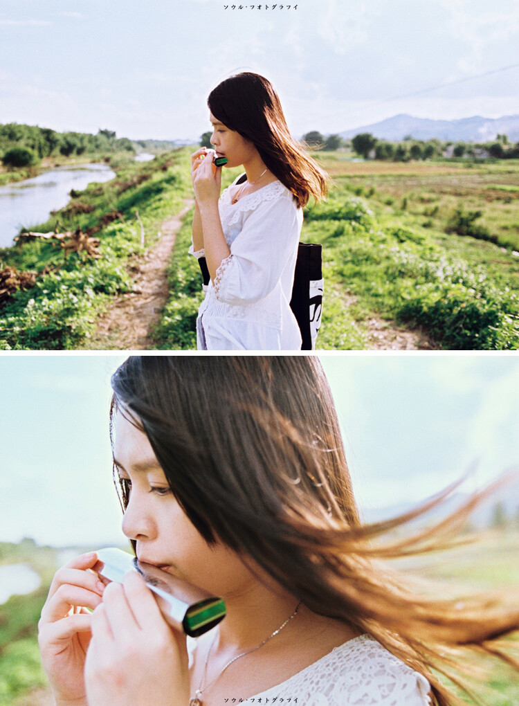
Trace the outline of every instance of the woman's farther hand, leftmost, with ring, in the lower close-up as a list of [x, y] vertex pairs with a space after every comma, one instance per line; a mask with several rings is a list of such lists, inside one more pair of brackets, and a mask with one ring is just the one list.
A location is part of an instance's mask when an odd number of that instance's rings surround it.
[[38, 623], [42, 664], [56, 704], [86, 704], [83, 670], [92, 614], [105, 586], [90, 571], [97, 554], [82, 554], [56, 571]]

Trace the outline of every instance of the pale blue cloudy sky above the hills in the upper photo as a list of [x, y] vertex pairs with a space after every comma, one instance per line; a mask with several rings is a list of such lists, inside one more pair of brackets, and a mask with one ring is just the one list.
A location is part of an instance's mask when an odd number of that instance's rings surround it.
[[0, 123], [196, 140], [208, 92], [239, 70], [273, 82], [298, 137], [518, 112], [519, 66], [482, 76], [519, 64], [516, 0], [290, 3], [2, 0]]

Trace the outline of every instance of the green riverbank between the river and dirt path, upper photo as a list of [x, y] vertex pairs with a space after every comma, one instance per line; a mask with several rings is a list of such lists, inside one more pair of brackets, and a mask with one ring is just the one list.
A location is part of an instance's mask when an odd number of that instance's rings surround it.
[[[88, 337], [114, 294], [130, 292], [131, 258], [157, 240], [160, 224], [191, 194], [189, 150], [117, 167], [117, 178], [77, 193], [38, 232], [68, 236], [36, 239], [0, 250], [0, 270], [35, 273], [0, 309], [0, 349], [88, 348]], [[80, 229], [80, 237], [73, 234]]]

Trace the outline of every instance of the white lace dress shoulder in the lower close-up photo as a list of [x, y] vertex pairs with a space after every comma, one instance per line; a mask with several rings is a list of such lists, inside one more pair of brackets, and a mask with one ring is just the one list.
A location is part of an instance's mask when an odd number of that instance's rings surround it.
[[[247, 706], [429, 706], [429, 682], [371, 638], [360, 635], [266, 691]], [[232, 698], [231, 698], [232, 696]], [[234, 700], [233, 700], [234, 699]]]

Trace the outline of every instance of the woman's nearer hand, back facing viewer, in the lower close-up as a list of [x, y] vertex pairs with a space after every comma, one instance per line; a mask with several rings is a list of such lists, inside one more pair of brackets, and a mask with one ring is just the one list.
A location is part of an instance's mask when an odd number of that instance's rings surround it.
[[185, 635], [169, 628], [136, 572], [111, 583], [93, 614], [85, 663], [88, 706], [186, 706]]

